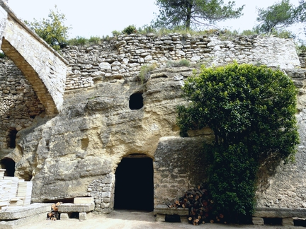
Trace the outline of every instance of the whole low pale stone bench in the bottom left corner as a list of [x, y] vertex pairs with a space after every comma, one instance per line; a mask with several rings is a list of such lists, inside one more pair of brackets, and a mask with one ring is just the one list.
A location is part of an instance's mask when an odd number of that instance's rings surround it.
[[0, 228], [17, 229], [25, 223], [35, 223], [47, 218], [51, 204], [30, 204], [29, 206], [11, 206], [0, 211]]

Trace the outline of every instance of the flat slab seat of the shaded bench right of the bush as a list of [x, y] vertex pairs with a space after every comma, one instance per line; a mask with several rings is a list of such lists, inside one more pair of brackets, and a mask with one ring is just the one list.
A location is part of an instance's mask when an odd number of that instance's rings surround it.
[[262, 218], [305, 218], [306, 209], [255, 208], [253, 216]]

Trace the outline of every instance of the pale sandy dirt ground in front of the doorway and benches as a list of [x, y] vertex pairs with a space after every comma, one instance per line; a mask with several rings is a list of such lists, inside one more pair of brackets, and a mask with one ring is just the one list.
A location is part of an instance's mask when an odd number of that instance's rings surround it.
[[60, 221], [39, 221], [35, 223], [28, 223], [23, 225], [19, 229], [172, 229], [172, 228], [267, 228], [267, 229], [278, 229], [278, 228], [291, 228], [291, 229], [301, 229], [303, 227], [283, 227], [281, 225], [221, 225], [221, 224], [211, 224], [205, 223], [202, 225], [191, 225], [188, 223], [166, 223], [157, 222], [152, 212], [141, 212], [141, 211], [125, 211], [117, 210], [113, 211], [108, 215], [94, 215], [92, 214], [84, 221], [79, 221], [79, 219], [69, 218], [68, 220]]

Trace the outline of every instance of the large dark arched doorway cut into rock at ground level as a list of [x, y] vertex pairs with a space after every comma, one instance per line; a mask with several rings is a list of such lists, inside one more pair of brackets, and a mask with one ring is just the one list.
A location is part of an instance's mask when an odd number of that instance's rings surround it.
[[123, 158], [115, 172], [115, 209], [153, 211], [153, 160], [145, 155]]

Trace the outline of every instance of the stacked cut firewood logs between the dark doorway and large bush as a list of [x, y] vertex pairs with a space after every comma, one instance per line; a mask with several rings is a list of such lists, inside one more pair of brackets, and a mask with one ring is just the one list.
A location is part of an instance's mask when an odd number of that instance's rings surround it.
[[212, 213], [212, 204], [213, 201], [209, 196], [208, 190], [204, 187], [196, 187], [185, 192], [174, 204], [170, 204], [169, 208], [188, 208], [188, 221], [193, 225], [227, 223], [222, 213], [217, 215]]

